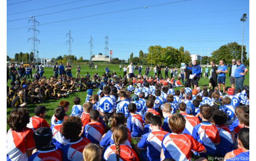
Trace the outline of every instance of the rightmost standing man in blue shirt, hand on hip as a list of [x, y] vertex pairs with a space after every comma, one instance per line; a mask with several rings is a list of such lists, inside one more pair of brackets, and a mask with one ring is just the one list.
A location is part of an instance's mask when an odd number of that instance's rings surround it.
[[235, 92], [237, 92], [237, 89], [241, 89], [244, 84], [244, 75], [247, 73], [248, 69], [245, 67], [245, 65], [242, 64], [242, 61], [240, 59], [237, 60], [237, 69], [235, 69]]

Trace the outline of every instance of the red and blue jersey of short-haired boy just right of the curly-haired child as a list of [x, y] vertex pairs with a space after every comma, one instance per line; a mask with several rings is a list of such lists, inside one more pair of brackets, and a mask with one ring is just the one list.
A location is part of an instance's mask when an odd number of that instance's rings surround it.
[[88, 138], [92, 143], [99, 144], [105, 130], [100, 122], [89, 122], [83, 128], [82, 137]]

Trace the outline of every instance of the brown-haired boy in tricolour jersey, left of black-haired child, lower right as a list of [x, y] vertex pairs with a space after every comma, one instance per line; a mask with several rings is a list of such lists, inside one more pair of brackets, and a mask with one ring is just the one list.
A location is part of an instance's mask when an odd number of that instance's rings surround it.
[[[200, 142], [207, 149], [206, 155], [214, 155], [216, 152], [216, 147], [220, 142], [219, 132], [216, 126], [210, 123], [210, 118], [213, 115], [213, 110], [210, 105], [201, 105], [199, 116], [202, 119], [202, 122], [196, 124], [192, 136], [196, 141]], [[200, 154], [201, 155], [201, 154]]]

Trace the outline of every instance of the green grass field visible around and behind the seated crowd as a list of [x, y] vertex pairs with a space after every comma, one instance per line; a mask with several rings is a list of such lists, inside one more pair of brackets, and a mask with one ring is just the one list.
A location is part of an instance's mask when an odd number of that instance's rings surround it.
[[[80, 76], [81, 75], [83, 75], [83, 76], [85, 76], [86, 75], [86, 73], [88, 72], [91, 76], [95, 73], [95, 72], [97, 72], [100, 76], [102, 75], [102, 74], [104, 74], [104, 72], [105, 72], [105, 70], [104, 70], [104, 68], [106, 67], [106, 66], [109, 66], [109, 69], [111, 70], [111, 73], [113, 72], [113, 71], [115, 71], [116, 72], [116, 74], [117, 74], [117, 76], [119, 76], [119, 75], [123, 75], [123, 71], [119, 71], [119, 64], [100, 64], [100, 63], [97, 63], [97, 65], [98, 65], [98, 69], [97, 69], [97, 71], [95, 71], [95, 69], [92, 69], [92, 70], [90, 70], [90, 67], [88, 66], [88, 65], [85, 65], [85, 64], [80, 64], [80, 67], [81, 67], [81, 73], [80, 73]], [[64, 65], [65, 66], [65, 65]], [[72, 64], [71, 65], [72, 66], [72, 75], [73, 76], [76, 76], [76, 67], [77, 67], [77, 64]], [[149, 65], [150, 66], [150, 65]], [[127, 67], [127, 65], [126, 65], [126, 67]], [[144, 72], [145, 72], [145, 67], [146, 67], [146, 65], [143, 65], [143, 69], [142, 69], [142, 74], [144, 74]], [[154, 66], [152, 66], [153, 68], [154, 68]], [[249, 67], [247, 67], [248, 68], [248, 72], [247, 72], [247, 74], [245, 75], [245, 80], [244, 80], [244, 85], [249, 85]], [[44, 70], [45, 70], [45, 73], [43, 74], [44, 76], [46, 76], [46, 78], [48, 79], [48, 78], [50, 78], [50, 76], [52, 76], [53, 75], [53, 71], [52, 71], [52, 68], [50, 68], [50, 67], [45, 67], [44, 68]], [[229, 67], [228, 67], [228, 70], [229, 70]], [[203, 72], [205, 71], [205, 67], [203, 67]], [[33, 72], [33, 71], [32, 71]], [[180, 71], [179, 71], [180, 72]], [[229, 72], [228, 72], [229, 73]], [[228, 73], [226, 74], [226, 87], [228, 87], [228, 86], [231, 86], [230, 84], [229, 84], [229, 77], [228, 77]], [[138, 74], [138, 72], [137, 71], [135, 71], [135, 74]], [[150, 72], [150, 75], [152, 75], [153, 74], [153, 72], [151, 71]], [[164, 77], [164, 71], [162, 71], [162, 76]], [[170, 74], [169, 74], [169, 76], [170, 76]], [[11, 80], [8, 80], [8, 83], [7, 83], [7, 85], [8, 86], [10, 86], [10, 82], [11, 82]], [[209, 79], [208, 78], [206, 78], [206, 79], [200, 79], [199, 80], [199, 86], [208, 86], [209, 87]], [[222, 87], [221, 87], [222, 88]], [[174, 90], [180, 90], [181, 89], [181, 87], [176, 87]], [[94, 94], [97, 94], [97, 91], [98, 91], [98, 89], [93, 89], [93, 95]], [[221, 89], [221, 91], [222, 91], [222, 89]], [[51, 122], [51, 117], [52, 117], [52, 115], [54, 114], [54, 110], [55, 110], [55, 108], [58, 106], [58, 104], [61, 102], [61, 101], [63, 101], [63, 100], [66, 100], [66, 101], [68, 101], [68, 102], [70, 102], [70, 108], [69, 108], [69, 110], [67, 111], [67, 115], [70, 115], [71, 114], [71, 110], [72, 110], [72, 106], [74, 105], [74, 103], [73, 103], [73, 97], [75, 97], [75, 96], [77, 96], [77, 97], [80, 97], [80, 99], [81, 99], [81, 105], [83, 104], [83, 102], [85, 102], [85, 98], [86, 98], [86, 95], [87, 95], [87, 92], [76, 92], [76, 93], [72, 93], [72, 94], [70, 94], [70, 95], [67, 95], [67, 97], [66, 98], [61, 98], [60, 100], [49, 100], [49, 101], [45, 101], [44, 103], [41, 103], [40, 105], [43, 105], [43, 106], [46, 106], [46, 116], [45, 116], [45, 120], [48, 122], [48, 124], [50, 124], [50, 122]], [[35, 116], [34, 115], [34, 108], [37, 106], [38, 104], [36, 104], [36, 105], [33, 105], [33, 104], [29, 104], [28, 105], [28, 111], [29, 111], [29, 115], [30, 116]], [[9, 117], [9, 113], [12, 111], [12, 108], [7, 108], [7, 118]], [[8, 126], [8, 124], [7, 124], [7, 131], [8, 131], [8, 129], [9, 129], [9, 126]], [[136, 140], [135, 139], [132, 139], [132, 141], [131, 141], [131, 145], [132, 145], [132, 147], [134, 147], [134, 145], [136, 144]], [[193, 159], [194, 160], [194, 159]]]

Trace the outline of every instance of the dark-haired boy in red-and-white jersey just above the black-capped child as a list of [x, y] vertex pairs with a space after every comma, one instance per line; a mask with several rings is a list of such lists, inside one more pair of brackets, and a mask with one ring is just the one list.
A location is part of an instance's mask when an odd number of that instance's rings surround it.
[[29, 123], [27, 124], [28, 128], [32, 128], [33, 131], [36, 131], [37, 128], [40, 127], [48, 127], [50, 128], [49, 124], [46, 122], [45, 114], [46, 114], [46, 108], [45, 106], [38, 105], [36, 106], [34, 110], [35, 116], [31, 117], [29, 119]]

